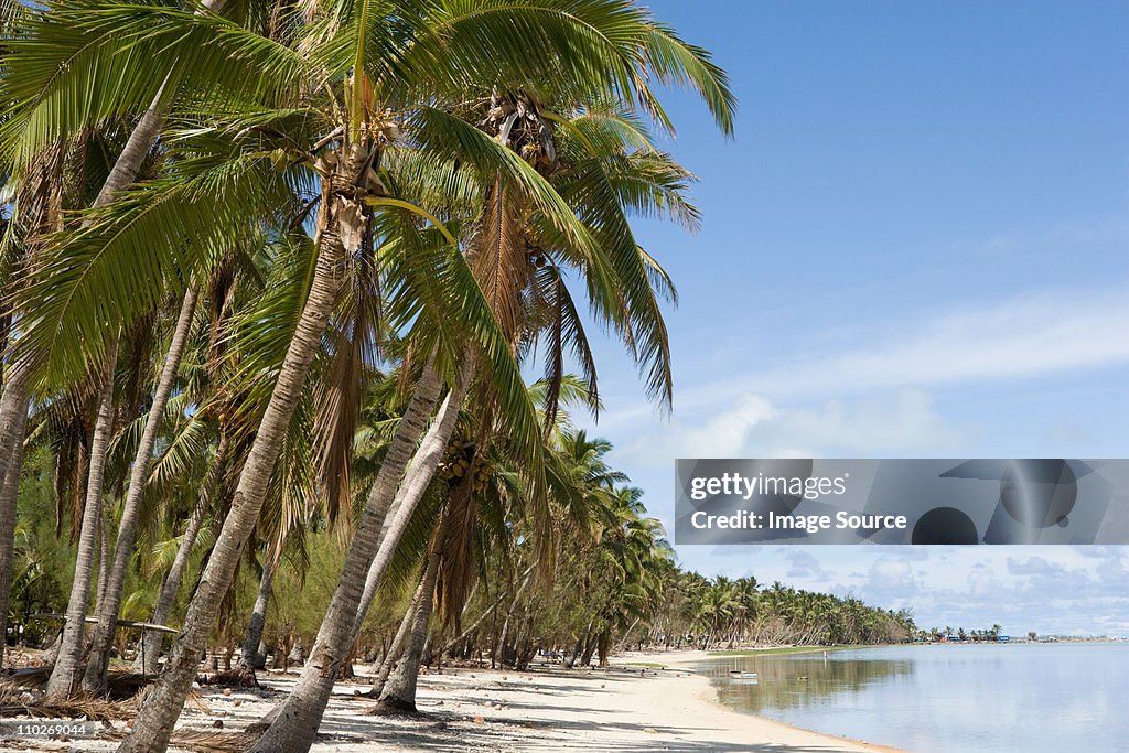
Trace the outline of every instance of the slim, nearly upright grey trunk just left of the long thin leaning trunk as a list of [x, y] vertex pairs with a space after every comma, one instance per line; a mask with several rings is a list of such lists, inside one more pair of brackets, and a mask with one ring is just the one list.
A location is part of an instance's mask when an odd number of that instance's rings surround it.
[[79, 536], [78, 560], [75, 564], [75, 583], [70, 602], [67, 604], [67, 621], [63, 624], [62, 642], [55, 667], [47, 680], [47, 697], [65, 699], [80, 682], [79, 669], [86, 649], [86, 610], [90, 601], [90, 577], [94, 570], [94, 550], [102, 526], [102, 482], [106, 472], [106, 447], [114, 422], [114, 366], [117, 360], [117, 339], [114, 338], [102, 367], [102, 384], [98, 395], [98, 420], [90, 443], [90, 471], [86, 488], [86, 506], [82, 510], [82, 532]]

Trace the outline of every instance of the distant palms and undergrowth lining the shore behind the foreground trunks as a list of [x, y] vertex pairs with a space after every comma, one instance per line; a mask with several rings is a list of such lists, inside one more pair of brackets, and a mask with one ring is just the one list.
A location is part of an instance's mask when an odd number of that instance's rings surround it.
[[[358, 443], [360, 457], [384, 444], [374, 438], [386, 422], [384, 401], [394, 397], [396, 380], [395, 375], [383, 377], [382, 388], [374, 392]], [[544, 406], [544, 383], [534, 385], [531, 396]], [[585, 397], [581, 380], [563, 382], [564, 403]], [[524, 669], [539, 659], [570, 667], [598, 659], [604, 666], [613, 647], [636, 643], [702, 649], [873, 643], [902, 641], [919, 632], [908, 613], [874, 608], [858, 599], [779, 583], [761, 588], [753, 577], [707, 579], [681, 570], [662, 526], [647, 517], [641, 492], [609, 465], [611, 445], [577, 430], [563, 409], [557, 411], [544, 446], [552, 479], [546, 558], [533, 519], [518, 509], [523, 490], [515, 478], [520, 458], [493, 449], [478, 471], [470, 470], [467, 458], [479, 448], [467, 437], [476, 422], [476, 415], [463, 411], [429, 489], [430, 499], [412, 522], [406, 536], [412, 543], [399, 548], [380, 589], [383, 604], [360, 625], [343, 664], [347, 673], [361, 657], [380, 667], [371, 692], [380, 710], [413, 710], [420, 667], [444, 660], [489, 660]], [[45, 513], [54, 502], [49, 448], [37, 448], [35, 458], [37, 483], [26, 485], [23, 502], [25, 517], [32, 520], [36, 514], [49, 517]], [[361, 479], [374, 473], [364, 462], [355, 463], [353, 471]], [[455, 498], [467, 484], [475, 509], [458, 533], [465, 536], [460, 549], [445, 527], [446, 516], [456, 509]], [[296, 640], [299, 647], [308, 646], [316, 636], [317, 623], [309, 621], [309, 613], [325, 611], [333, 592], [330, 580], [345, 546], [324, 509], [310, 508], [307, 515], [305, 535], [295, 540], [285, 562], [272, 562], [265, 548], [261, 562], [255, 562], [259, 569], [243, 573], [229, 599], [213, 641], [225, 647], [228, 668], [233, 660], [251, 671], [260, 668], [268, 651], [275, 666], [286, 666]], [[25, 545], [17, 563], [19, 581], [27, 585], [14, 590], [24, 613], [35, 603], [50, 608], [51, 601], [36, 602], [42, 598], [36, 593], [62, 597], [58, 587], [44, 589], [45, 583], [56, 584], [38, 567], [54, 553], [53, 522], [41, 522], [42, 541], [36, 544], [34, 533], [28, 533], [36, 527], [32, 520], [25, 520], [20, 535]], [[157, 550], [173, 549], [175, 543], [170, 539]], [[310, 549], [317, 552], [316, 562]], [[35, 578], [40, 585], [33, 592]], [[281, 584], [280, 593], [295, 590], [303, 596], [275, 599], [268, 608], [272, 583]], [[128, 615], [143, 618], [145, 601], [134, 606], [140, 612]], [[242, 656], [234, 646], [242, 646]], [[159, 646], [150, 649], [150, 658], [157, 650]], [[300, 655], [292, 660], [300, 663]]]

